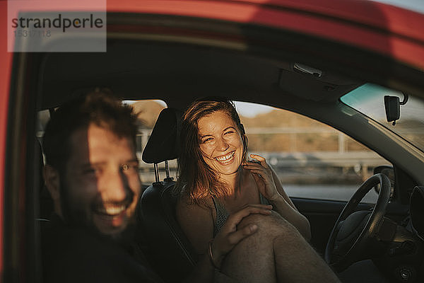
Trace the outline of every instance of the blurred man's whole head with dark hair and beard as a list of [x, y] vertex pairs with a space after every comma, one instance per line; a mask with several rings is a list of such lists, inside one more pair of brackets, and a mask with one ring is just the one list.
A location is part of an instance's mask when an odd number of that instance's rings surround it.
[[141, 194], [136, 117], [107, 96], [83, 99], [59, 108], [47, 125], [45, 183], [67, 224], [119, 239], [135, 223]]

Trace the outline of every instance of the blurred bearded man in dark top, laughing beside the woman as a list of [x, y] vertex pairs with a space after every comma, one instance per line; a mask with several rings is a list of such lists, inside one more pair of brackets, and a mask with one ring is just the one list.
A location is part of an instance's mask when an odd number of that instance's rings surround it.
[[43, 139], [55, 212], [42, 233], [45, 282], [160, 282], [130, 256], [141, 195], [135, 137], [131, 108], [107, 93], [52, 115]]

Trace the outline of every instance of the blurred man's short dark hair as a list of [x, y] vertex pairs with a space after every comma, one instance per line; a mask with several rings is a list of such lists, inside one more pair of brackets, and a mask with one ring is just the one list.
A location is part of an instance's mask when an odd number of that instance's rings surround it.
[[43, 138], [46, 163], [64, 173], [72, 154], [71, 135], [78, 129], [88, 129], [90, 124], [108, 129], [119, 138], [129, 138], [135, 149], [137, 117], [132, 108], [110, 91], [93, 91], [64, 103], [52, 114]]

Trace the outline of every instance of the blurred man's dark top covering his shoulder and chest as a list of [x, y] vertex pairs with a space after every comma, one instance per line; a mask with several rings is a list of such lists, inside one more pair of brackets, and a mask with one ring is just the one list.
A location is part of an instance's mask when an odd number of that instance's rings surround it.
[[117, 243], [52, 221], [42, 233], [45, 282], [158, 282]]

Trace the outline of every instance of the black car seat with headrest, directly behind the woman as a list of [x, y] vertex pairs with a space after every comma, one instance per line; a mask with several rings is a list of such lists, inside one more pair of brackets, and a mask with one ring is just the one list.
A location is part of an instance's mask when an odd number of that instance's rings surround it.
[[[153, 269], [165, 282], [181, 282], [196, 263], [196, 253], [175, 218], [177, 195], [167, 161], [178, 156], [178, 110], [160, 112], [143, 151], [143, 161], [155, 166], [155, 183], [141, 196], [139, 220], [142, 248]], [[167, 178], [160, 181], [158, 163], [165, 161]]]

